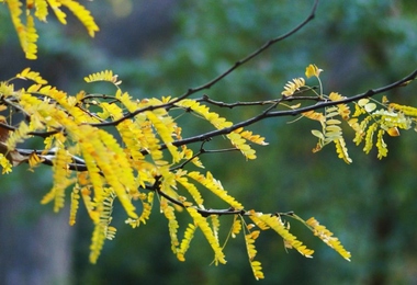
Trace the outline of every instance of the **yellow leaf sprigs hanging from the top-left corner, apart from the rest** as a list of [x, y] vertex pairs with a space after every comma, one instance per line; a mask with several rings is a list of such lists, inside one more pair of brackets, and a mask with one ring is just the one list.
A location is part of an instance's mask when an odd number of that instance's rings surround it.
[[1, 2], [5, 2], [9, 7], [20, 44], [27, 59], [36, 59], [38, 35], [35, 27], [35, 18], [46, 22], [48, 8], [54, 11], [56, 18], [63, 24], [67, 23], [67, 15], [61, 10], [61, 7], [65, 7], [86, 26], [90, 36], [93, 37], [94, 33], [99, 31], [99, 26], [95, 24], [90, 11], [76, 0], [0, 0]]

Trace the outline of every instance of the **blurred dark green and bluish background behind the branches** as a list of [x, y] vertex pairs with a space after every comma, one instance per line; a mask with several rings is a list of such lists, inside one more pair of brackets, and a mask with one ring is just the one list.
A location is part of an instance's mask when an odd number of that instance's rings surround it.
[[[111, 92], [108, 86], [86, 84], [82, 78], [112, 69], [131, 95], [178, 96], [294, 27], [313, 1], [82, 3], [91, 9], [101, 32], [91, 39], [74, 18], [68, 16], [69, 24], [63, 26], [50, 16], [48, 24], [38, 24], [37, 61], [24, 59], [1, 5], [0, 80], [32, 67], [69, 93]], [[326, 93], [350, 96], [408, 75], [417, 67], [416, 50], [415, 0], [324, 0], [304, 30], [204, 93], [224, 102], [273, 99], [288, 80], [316, 64], [325, 70]], [[414, 83], [386, 95], [417, 105], [415, 90]], [[218, 110], [234, 122], [259, 111]], [[105, 243], [98, 264], [91, 265], [92, 225], [86, 212], [80, 210], [76, 226], [69, 227], [68, 209], [56, 215], [49, 205], [40, 205], [50, 189], [49, 169], [32, 173], [22, 166], [0, 176], [0, 284], [416, 284], [416, 134], [387, 138], [388, 158], [382, 161], [349, 141], [353, 163], [348, 166], [337, 159], [331, 146], [312, 153], [316, 141], [309, 130], [317, 124], [306, 119], [289, 124], [293, 119], [268, 119], [249, 128], [270, 142], [256, 148], [255, 161], [233, 152], [202, 160], [248, 208], [316, 217], [351, 251], [351, 262], [292, 223], [293, 232], [315, 249], [314, 259], [286, 253], [281, 238], [263, 232], [257, 242], [263, 281], [256, 282], [251, 275], [243, 237], [228, 242], [226, 265], [210, 265], [213, 255], [202, 235], [181, 263], [170, 251], [167, 221], [154, 205], [149, 223], [134, 230], [123, 224], [123, 212], [116, 212], [116, 239]], [[194, 123], [183, 124], [189, 134], [199, 133]], [[36, 141], [26, 147], [36, 147]], [[224, 226], [229, 220], [222, 218]]]

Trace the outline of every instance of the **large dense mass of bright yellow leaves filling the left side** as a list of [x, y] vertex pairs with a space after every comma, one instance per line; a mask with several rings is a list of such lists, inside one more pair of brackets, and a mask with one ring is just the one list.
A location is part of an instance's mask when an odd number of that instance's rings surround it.
[[[32, 138], [35, 132], [50, 133], [44, 139], [45, 151], [33, 152], [24, 159], [32, 169], [45, 161], [53, 164], [54, 185], [42, 203], [54, 202], [54, 210], [57, 212], [64, 207], [69, 190], [70, 225], [76, 224], [82, 201], [94, 224], [91, 262], [97, 262], [104, 240], [115, 236], [116, 229], [110, 226], [113, 201], [117, 198], [121, 202], [127, 215], [125, 223], [135, 228], [149, 219], [154, 195], [158, 191], [181, 203], [193, 220], [180, 242], [176, 212], [181, 208], [159, 197], [161, 213], [168, 220], [172, 251], [178, 259], [184, 260], [193, 232], [200, 229], [213, 248], [215, 263], [226, 262], [219, 246], [218, 217], [212, 216], [208, 221], [198, 212], [198, 208], [204, 209], [201, 187], [219, 197], [230, 208], [240, 210], [244, 206], [224, 190], [210, 171], [203, 174], [178, 167], [188, 162], [199, 168], [203, 168], [203, 164], [192, 149], [174, 146], [176, 140], [182, 139], [182, 129], [169, 114], [169, 109], [164, 107], [171, 101], [170, 98], [134, 100], [121, 90], [121, 81], [110, 70], [84, 78], [87, 82], [108, 81], [115, 87], [113, 95], [102, 98], [90, 96], [83, 91], [70, 96], [48, 86], [38, 72], [29, 68], [13, 79], [33, 83], [29, 88], [14, 90], [11, 80], [1, 82], [1, 100], [5, 100], [11, 109], [18, 107], [29, 118], [27, 122], [15, 122], [13, 132], [7, 130], [9, 134], [1, 142], [7, 150], [0, 157], [3, 171], [11, 171], [12, 164], [5, 156], [14, 151], [19, 144]], [[173, 102], [171, 106], [194, 112], [216, 129], [233, 125], [194, 100]], [[137, 113], [124, 117], [131, 112]], [[112, 125], [113, 129], [108, 132], [101, 128], [101, 124]], [[113, 135], [115, 133], [116, 136]], [[230, 130], [226, 137], [247, 159], [256, 157], [249, 144], [267, 145], [263, 137], [243, 128]], [[80, 167], [83, 169], [77, 169]], [[159, 187], [146, 190], [155, 184]], [[185, 192], [180, 193], [183, 190]], [[187, 196], [191, 200], [187, 201]], [[142, 205], [137, 207], [137, 203]], [[142, 213], [137, 213], [138, 208]]]

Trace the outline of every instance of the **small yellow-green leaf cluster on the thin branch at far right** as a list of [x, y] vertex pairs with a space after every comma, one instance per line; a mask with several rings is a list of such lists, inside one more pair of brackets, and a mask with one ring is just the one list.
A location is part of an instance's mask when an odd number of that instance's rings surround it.
[[[354, 113], [351, 114], [350, 106], [342, 103], [346, 99], [345, 96], [336, 92], [330, 92], [329, 95], [323, 94], [319, 79], [322, 71], [315, 65], [309, 65], [305, 71], [307, 78], [316, 77], [319, 82], [320, 90], [317, 98], [341, 103], [335, 106], [327, 106], [324, 109], [324, 112], [307, 111], [302, 114], [303, 117], [318, 121], [322, 125], [322, 130], [312, 130], [312, 134], [318, 138], [317, 146], [313, 149], [313, 152], [317, 152], [326, 145], [333, 142], [335, 144], [338, 158], [342, 159], [346, 163], [351, 163], [352, 159], [349, 157], [341, 128], [342, 122], [346, 122], [354, 130], [353, 142], [359, 146], [363, 141], [363, 151], [365, 153], [369, 153], [373, 146], [376, 146], [377, 158], [382, 159], [387, 156], [388, 151], [387, 145], [383, 139], [384, 135], [398, 136], [398, 129], [409, 129], [412, 124], [416, 123], [417, 109], [396, 103], [379, 103], [367, 98], [354, 102]], [[304, 78], [296, 78], [285, 84], [282, 94], [284, 96], [292, 96], [303, 87], [309, 88], [305, 84]], [[380, 109], [377, 109], [377, 104], [380, 104]], [[375, 134], [377, 135], [376, 142], [374, 144]]]

